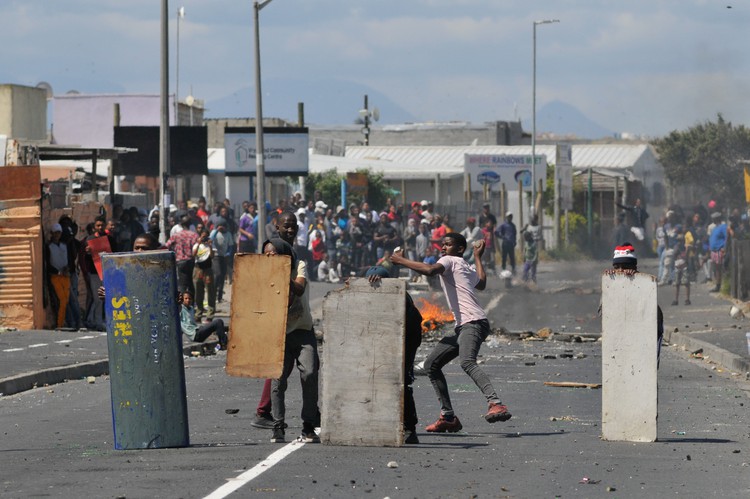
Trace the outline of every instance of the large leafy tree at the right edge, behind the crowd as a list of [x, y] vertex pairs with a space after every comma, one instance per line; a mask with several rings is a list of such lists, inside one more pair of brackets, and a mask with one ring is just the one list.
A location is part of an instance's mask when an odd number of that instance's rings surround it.
[[732, 126], [719, 114], [717, 121], [672, 131], [652, 145], [672, 185], [708, 189], [727, 205], [744, 204], [742, 160], [750, 160], [750, 129]]

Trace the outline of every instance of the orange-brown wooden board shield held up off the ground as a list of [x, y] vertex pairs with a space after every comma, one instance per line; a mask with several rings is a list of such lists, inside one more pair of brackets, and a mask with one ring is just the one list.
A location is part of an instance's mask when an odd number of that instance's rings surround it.
[[281, 376], [291, 266], [288, 256], [235, 256], [227, 350], [230, 376]]

